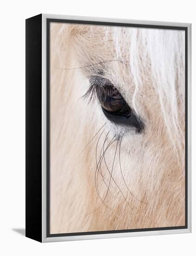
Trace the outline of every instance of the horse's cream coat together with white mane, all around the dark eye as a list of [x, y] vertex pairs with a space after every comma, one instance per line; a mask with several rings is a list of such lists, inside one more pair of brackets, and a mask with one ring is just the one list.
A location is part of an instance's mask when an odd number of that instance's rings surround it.
[[[94, 75], [120, 90], [144, 133], [82, 99]], [[183, 226], [184, 101], [184, 31], [53, 23], [51, 232]]]

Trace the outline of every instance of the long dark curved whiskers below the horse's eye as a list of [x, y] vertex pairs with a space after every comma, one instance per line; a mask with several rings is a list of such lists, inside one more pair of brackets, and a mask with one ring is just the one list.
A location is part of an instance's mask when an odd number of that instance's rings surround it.
[[[146, 202], [140, 200], [135, 195], [133, 195], [131, 190], [128, 188], [128, 185], [126, 184], [126, 180], [125, 180], [125, 177], [124, 177], [124, 174], [123, 174], [123, 171], [122, 171], [122, 166], [121, 166], [121, 161], [120, 161], [121, 142], [122, 142], [124, 134], [119, 135], [118, 137], [114, 136], [111, 139], [111, 141], [110, 140], [108, 141], [108, 135], [109, 135], [110, 132], [108, 132], [107, 134], [105, 133], [105, 135], [104, 135], [104, 126], [105, 126], [105, 124], [103, 126], [101, 126], [101, 128], [98, 130], [98, 132], [93, 136], [93, 138], [85, 146], [85, 148], [86, 148], [89, 145], [89, 143], [91, 141], [93, 141], [94, 139], [96, 139], [96, 136], [98, 136], [98, 139], [97, 139], [97, 142], [96, 142], [96, 150], [95, 150], [95, 160], [96, 160], [95, 189], [96, 189], [97, 195], [99, 196], [99, 198], [101, 200], [101, 203], [96, 209], [94, 209], [92, 212], [89, 212], [88, 215], [97, 211], [102, 205], [105, 205], [108, 209], [110, 209], [114, 212], [114, 209], [110, 208], [107, 205], [106, 198], [107, 198], [108, 194], [110, 194], [110, 196], [109, 196], [110, 199], [111, 198], [117, 198], [117, 196], [119, 194], [118, 192], [120, 192], [121, 196], [124, 198], [127, 207], [131, 207], [130, 202], [129, 202], [131, 198], [133, 200], [137, 200], [138, 202], [147, 205]], [[100, 144], [100, 141], [101, 141], [101, 137], [105, 137], [105, 138], [102, 140], [103, 141], [102, 146], [99, 145], [99, 147], [98, 147], [98, 144]], [[107, 162], [107, 151], [110, 151], [110, 148], [111, 148], [113, 143], [115, 143], [115, 146], [113, 148], [114, 158], [112, 160], [112, 163], [108, 164], [108, 162]], [[83, 150], [82, 150], [82, 152], [83, 152]], [[100, 150], [100, 153], [98, 153], [99, 150]], [[114, 162], [115, 162], [115, 166], [114, 166]], [[118, 164], [119, 164], [119, 166], [118, 166]], [[103, 169], [102, 169], [104, 166], [106, 167], [105, 171], [103, 171]], [[121, 173], [123, 182], [124, 182], [124, 184], [126, 186], [126, 189], [128, 191], [128, 193], [126, 191], [125, 194], [121, 190], [120, 184], [118, 184], [118, 182], [115, 180], [115, 177], [114, 177], [115, 169], [119, 168], [119, 167], [120, 167], [120, 173]], [[99, 182], [98, 182], [98, 180], [99, 180]], [[98, 183], [101, 184], [100, 183], [101, 181], [103, 182], [102, 184], [105, 185], [105, 186], [101, 187], [102, 189], [99, 189]], [[113, 192], [114, 192], [114, 190], [117, 189], [117, 195], [116, 194], [114, 195], [112, 193], [111, 187], [113, 188], [112, 189]], [[119, 216], [115, 212], [114, 212], [114, 214], [116, 216]]]

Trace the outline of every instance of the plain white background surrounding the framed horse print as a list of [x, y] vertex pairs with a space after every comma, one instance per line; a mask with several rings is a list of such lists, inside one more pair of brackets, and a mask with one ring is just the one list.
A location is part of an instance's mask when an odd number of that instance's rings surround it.
[[[192, 23], [192, 94], [196, 14], [191, 0], [6, 0], [0, 3], [0, 255], [196, 255], [196, 100], [192, 102], [192, 234], [41, 244], [25, 228], [25, 19], [39, 13]], [[14, 231], [15, 229], [15, 231]]]

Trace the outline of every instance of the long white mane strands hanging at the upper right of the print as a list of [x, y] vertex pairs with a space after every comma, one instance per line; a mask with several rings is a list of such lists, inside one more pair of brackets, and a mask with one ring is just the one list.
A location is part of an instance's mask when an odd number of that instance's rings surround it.
[[147, 75], [158, 94], [170, 138], [174, 146], [184, 148], [184, 124], [180, 123], [184, 121], [185, 106], [184, 31], [118, 27], [113, 28], [113, 34], [118, 59], [123, 60], [129, 49], [129, 71], [135, 88], [133, 108], [139, 112], [135, 98], [149, 70]]

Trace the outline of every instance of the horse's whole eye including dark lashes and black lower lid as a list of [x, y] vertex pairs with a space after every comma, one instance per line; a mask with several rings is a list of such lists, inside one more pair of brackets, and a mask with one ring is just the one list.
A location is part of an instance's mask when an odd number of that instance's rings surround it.
[[133, 128], [137, 133], [144, 129], [144, 123], [134, 110], [129, 107], [119, 90], [106, 78], [93, 76], [89, 79], [90, 87], [84, 98], [100, 102], [103, 114], [116, 125]]

